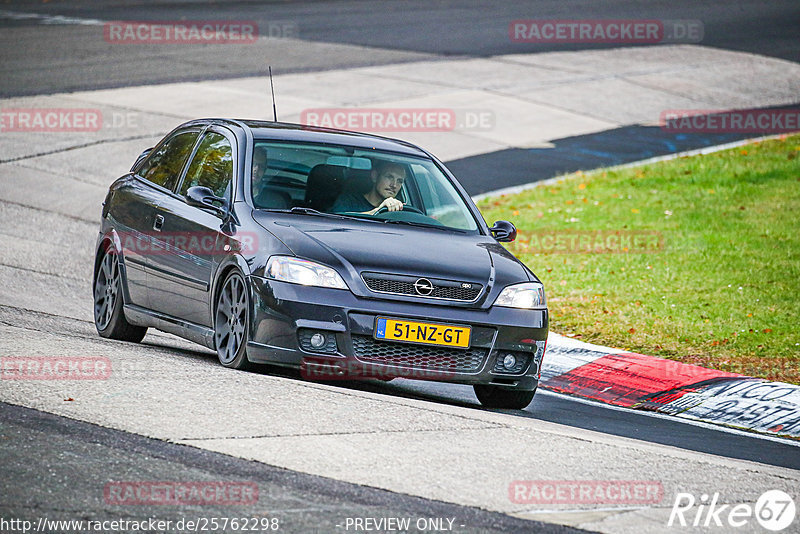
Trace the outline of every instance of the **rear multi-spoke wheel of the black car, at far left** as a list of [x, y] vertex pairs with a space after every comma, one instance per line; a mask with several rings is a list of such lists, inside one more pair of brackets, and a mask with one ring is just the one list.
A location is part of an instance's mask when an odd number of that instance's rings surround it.
[[101, 337], [139, 343], [147, 327], [132, 325], [122, 309], [122, 270], [119, 254], [109, 247], [94, 275], [94, 326]]

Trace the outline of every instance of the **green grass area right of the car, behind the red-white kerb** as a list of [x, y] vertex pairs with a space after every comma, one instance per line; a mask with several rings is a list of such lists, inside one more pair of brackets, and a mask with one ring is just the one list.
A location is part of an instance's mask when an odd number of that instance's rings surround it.
[[[800, 383], [800, 135], [577, 172], [478, 206], [517, 226], [508, 248], [544, 283], [553, 331]], [[542, 249], [542, 235], [573, 230], [662, 241], [649, 253]]]

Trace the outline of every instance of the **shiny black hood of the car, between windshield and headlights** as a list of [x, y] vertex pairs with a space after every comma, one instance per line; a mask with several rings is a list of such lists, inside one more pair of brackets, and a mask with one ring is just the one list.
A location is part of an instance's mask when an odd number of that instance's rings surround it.
[[367, 294], [365, 287], [357, 290], [363, 272], [478, 283], [490, 290], [532, 278], [489, 236], [275, 212], [257, 211], [254, 217], [298, 257], [336, 268], [355, 293]]

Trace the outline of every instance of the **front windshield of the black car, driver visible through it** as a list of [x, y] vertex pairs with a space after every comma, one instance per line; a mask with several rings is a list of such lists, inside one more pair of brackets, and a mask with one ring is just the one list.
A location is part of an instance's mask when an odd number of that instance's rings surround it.
[[250, 187], [258, 209], [478, 230], [450, 179], [428, 158], [256, 139]]

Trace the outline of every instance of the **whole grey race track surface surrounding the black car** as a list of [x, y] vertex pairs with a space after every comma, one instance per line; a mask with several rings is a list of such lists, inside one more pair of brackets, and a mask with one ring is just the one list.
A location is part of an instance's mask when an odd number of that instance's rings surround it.
[[[368, 93], [377, 80], [388, 102], [436, 105], [475, 87], [445, 74], [423, 85], [414, 75], [438, 68], [471, 78], [477, 65], [472, 78], [484, 92], [470, 93], [464, 105], [485, 102], [486, 109], [500, 110], [500, 124], [503, 106], [513, 116], [516, 104], [498, 94], [502, 80], [493, 85], [481, 73], [525, 61], [555, 72], [551, 65], [567, 61], [576, 77], [603, 84], [612, 76], [587, 74], [582, 58], [620, 69], [626, 66], [617, 63], [627, 61], [615, 59], [611, 45], [512, 43], [510, 20], [700, 20], [701, 47], [631, 54], [631, 64], [640, 61], [637, 75], [671, 73], [669, 65], [691, 57], [700, 69], [717, 61], [709, 77], [729, 83], [698, 97], [705, 107], [723, 93], [743, 107], [800, 100], [800, 67], [793, 63], [800, 60], [797, 2], [696, 4], [1, 3], [0, 107], [91, 105], [134, 113], [137, 122], [98, 137], [0, 132], [0, 356], [100, 356], [114, 369], [100, 382], [0, 381], [0, 520], [241, 515], [278, 518], [285, 532], [346, 532], [354, 530], [346, 528], [348, 519], [405, 517], [412, 523], [449, 518], [455, 532], [684, 532], [666, 523], [679, 492], [719, 493], [731, 505], [753, 504], [767, 490], [796, 492], [800, 446], [786, 440], [547, 391], [524, 411], [493, 411], [481, 409], [465, 386], [402, 379], [316, 384], [273, 368], [231, 372], [210, 351], [152, 330], [141, 345], [102, 339], [91, 320], [91, 254], [105, 188], [187, 115], [224, 113], [228, 105], [236, 110], [231, 114], [247, 109], [241, 100], [263, 87], [267, 64], [283, 77], [279, 101], [287, 120], [328, 105], [304, 92], [315, 80], [325, 84], [320, 93], [346, 93], [342, 86], [351, 80]], [[255, 20], [260, 28], [280, 23], [293, 34], [259, 40], [246, 52], [223, 45], [110, 46], [102, 39], [103, 21], [207, 19]], [[592, 53], [605, 55], [582, 55]], [[481, 63], [459, 71], [460, 61], [473, 59]], [[652, 73], [639, 72], [650, 63]], [[664, 64], [667, 70], [657, 72]], [[188, 85], [168, 85], [177, 82]], [[80, 93], [62, 94], [72, 91]], [[356, 105], [361, 93], [353, 97]], [[487, 94], [497, 100], [482, 100]], [[217, 95], [225, 103], [214, 108], [208, 102]], [[477, 194], [748, 137], [667, 135], [645, 120], [666, 100], [651, 109], [652, 93], [637, 98], [589, 113], [543, 96], [530, 109], [547, 104], [550, 114], [535, 135], [514, 130], [509, 137], [530, 135], [519, 144], [503, 141], [502, 132], [412, 140], [433, 145]], [[148, 106], [151, 113], [143, 111]], [[254, 109], [264, 116], [271, 108], [261, 102]], [[234, 507], [109, 504], [104, 487], [115, 480], [246, 481], [258, 487], [259, 498]], [[657, 480], [663, 498], [645, 505], [526, 504], [509, 497], [516, 480]], [[753, 521], [748, 528], [742, 531], [759, 526]], [[0, 531], [12, 530], [0, 523]]]

